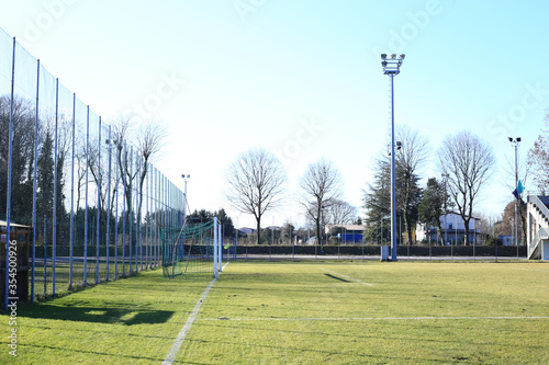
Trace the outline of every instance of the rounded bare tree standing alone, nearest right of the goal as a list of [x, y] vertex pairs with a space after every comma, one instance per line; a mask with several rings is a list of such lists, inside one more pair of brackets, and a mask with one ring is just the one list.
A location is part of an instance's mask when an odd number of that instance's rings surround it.
[[251, 214], [257, 223], [257, 243], [260, 243], [261, 217], [278, 207], [284, 192], [285, 173], [282, 164], [262, 148], [242, 153], [228, 168], [228, 201], [242, 213]]

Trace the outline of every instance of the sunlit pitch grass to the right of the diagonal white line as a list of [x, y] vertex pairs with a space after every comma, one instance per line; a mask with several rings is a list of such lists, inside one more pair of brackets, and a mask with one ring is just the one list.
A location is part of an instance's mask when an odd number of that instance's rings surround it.
[[231, 264], [178, 360], [545, 364], [548, 287], [529, 263]]

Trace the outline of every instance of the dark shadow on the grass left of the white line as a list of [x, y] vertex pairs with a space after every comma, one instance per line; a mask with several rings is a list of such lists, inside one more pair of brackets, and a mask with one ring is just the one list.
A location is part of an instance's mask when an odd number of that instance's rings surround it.
[[67, 320], [91, 323], [156, 324], [167, 322], [173, 311], [131, 307], [72, 307], [43, 304], [22, 310], [19, 317]]

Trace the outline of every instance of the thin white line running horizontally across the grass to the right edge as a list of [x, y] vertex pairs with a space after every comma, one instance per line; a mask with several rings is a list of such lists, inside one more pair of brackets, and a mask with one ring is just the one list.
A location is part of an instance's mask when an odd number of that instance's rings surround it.
[[[512, 320], [512, 319], [549, 319], [549, 317], [350, 317], [350, 318], [226, 318], [229, 321], [430, 321], [430, 320]], [[202, 318], [198, 321], [216, 321], [220, 318]]]

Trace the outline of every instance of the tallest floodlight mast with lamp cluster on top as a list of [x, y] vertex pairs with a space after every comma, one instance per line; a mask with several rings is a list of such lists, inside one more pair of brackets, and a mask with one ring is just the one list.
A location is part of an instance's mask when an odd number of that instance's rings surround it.
[[395, 202], [395, 183], [394, 183], [394, 77], [401, 71], [402, 61], [405, 55], [396, 56], [392, 54], [388, 57], [386, 54], [381, 55], [381, 66], [383, 75], [389, 75], [391, 80], [391, 261], [396, 259], [396, 202]]

